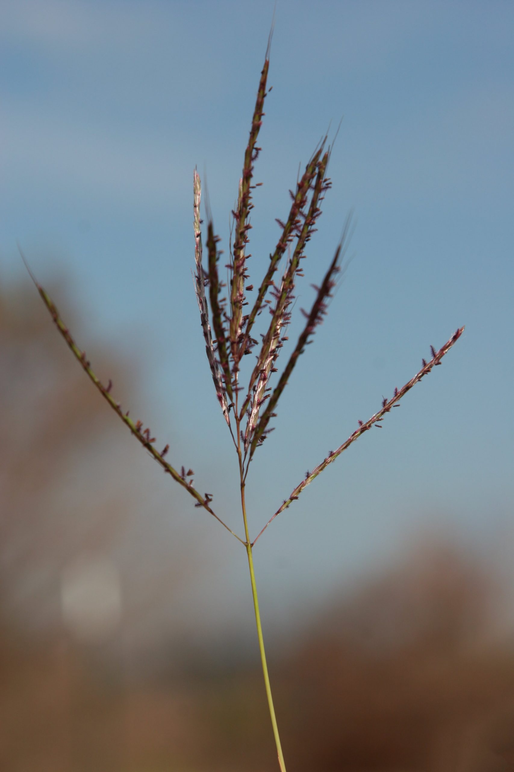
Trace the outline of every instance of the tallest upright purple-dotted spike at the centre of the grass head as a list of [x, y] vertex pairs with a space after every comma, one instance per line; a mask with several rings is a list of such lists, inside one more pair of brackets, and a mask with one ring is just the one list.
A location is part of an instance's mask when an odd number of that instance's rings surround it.
[[254, 116], [252, 117], [252, 125], [250, 127], [250, 137], [248, 139], [247, 149], [244, 153], [243, 176], [240, 182], [237, 211], [233, 212], [235, 234], [233, 241], [233, 273], [230, 286], [230, 347], [233, 359], [236, 363], [240, 359], [240, 354], [238, 354], [238, 340], [243, 315], [244, 281], [247, 278], [245, 269], [247, 256], [245, 254], [245, 249], [249, 240], [248, 231], [251, 228], [250, 222], [248, 222], [248, 216], [250, 215], [250, 210], [253, 208], [253, 204], [251, 203], [251, 191], [254, 187], [252, 185], [254, 161], [257, 161], [260, 152], [260, 147], [257, 147], [257, 137], [262, 125], [264, 100], [266, 99], [267, 94], [267, 73], [270, 67], [269, 46], [270, 42], [268, 42], [264, 67], [260, 73]]

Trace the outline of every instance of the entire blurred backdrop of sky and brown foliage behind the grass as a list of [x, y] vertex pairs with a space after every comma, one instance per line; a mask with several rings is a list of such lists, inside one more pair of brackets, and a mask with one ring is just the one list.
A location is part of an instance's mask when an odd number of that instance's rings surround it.
[[[16, 245], [99, 377], [241, 532], [192, 178], [227, 251], [273, 13], [0, 0], [2, 770], [276, 768], [246, 554], [99, 398]], [[255, 548], [290, 769], [514, 769], [513, 21], [503, 2], [276, 8], [254, 283], [298, 164], [341, 117], [298, 307], [351, 208], [357, 228], [256, 454], [251, 535], [466, 325]]]

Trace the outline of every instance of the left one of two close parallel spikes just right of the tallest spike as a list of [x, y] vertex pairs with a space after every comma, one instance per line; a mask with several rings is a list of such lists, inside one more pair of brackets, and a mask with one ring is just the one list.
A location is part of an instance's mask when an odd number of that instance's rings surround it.
[[287, 245], [289, 245], [294, 239], [294, 233], [297, 231], [300, 222], [299, 216], [301, 215], [301, 212], [303, 212], [304, 206], [307, 203], [307, 194], [311, 188], [311, 182], [316, 176], [317, 162], [320, 160], [325, 141], [326, 137], [325, 140], [321, 143], [321, 147], [319, 147], [319, 149], [314, 153], [314, 155], [311, 157], [311, 160], [308, 161], [301, 180], [297, 182], [297, 190], [293, 198], [293, 203], [291, 204], [289, 215], [287, 216], [286, 222], [281, 223], [283, 226], [281, 238], [277, 242], [277, 246], [275, 247], [273, 255], [270, 255], [270, 266], [268, 267], [266, 276], [264, 276], [264, 279], [259, 287], [257, 299], [255, 300], [254, 307], [250, 311], [250, 315], [247, 319], [246, 328], [244, 330], [244, 339], [240, 346], [240, 356], [242, 356], [242, 354], [244, 354], [247, 350], [247, 344], [250, 340], [250, 330], [254, 326], [257, 314], [260, 313], [260, 310], [262, 310], [264, 298], [266, 296], [267, 290], [273, 284], [273, 276], [277, 270], [278, 264], [281, 261], [282, 256], [284, 256]]

